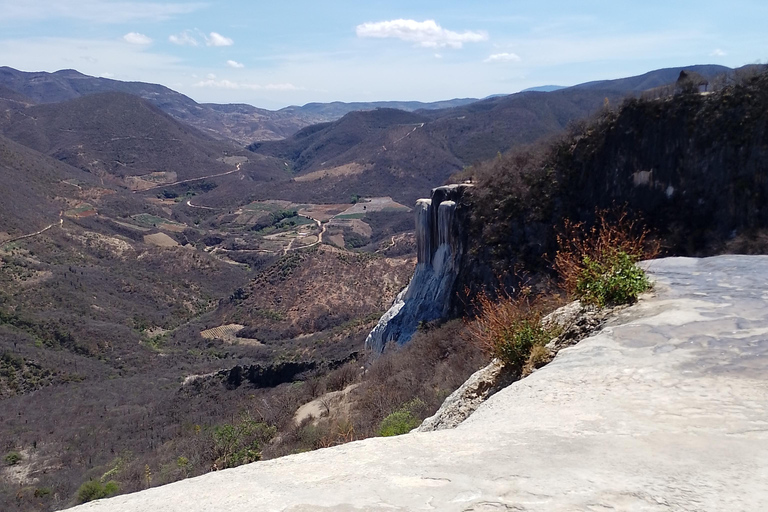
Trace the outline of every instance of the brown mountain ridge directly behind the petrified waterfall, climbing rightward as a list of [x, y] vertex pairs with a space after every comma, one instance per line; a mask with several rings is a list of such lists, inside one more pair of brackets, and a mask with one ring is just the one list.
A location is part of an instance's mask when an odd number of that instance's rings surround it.
[[606, 99], [615, 104], [627, 95], [673, 83], [682, 69], [704, 76], [729, 71], [721, 66], [674, 68], [411, 114], [354, 112], [249, 149], [290, 168], [294, 180], [278, 192], [286, 199], [341, 201], [353, 194], [387, 194], [408, 204], [467, 165], [552, 135], [597, 112]]

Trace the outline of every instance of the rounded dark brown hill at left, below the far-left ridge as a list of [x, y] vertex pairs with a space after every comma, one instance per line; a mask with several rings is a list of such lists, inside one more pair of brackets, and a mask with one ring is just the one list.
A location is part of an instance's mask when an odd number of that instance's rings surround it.
[[119, 178], [168, 172], [182, 180], [224, 172], [231, 167], [217, 159], [236, 151], [123, 93], [12, 111], [0, 129], [57, 160]]

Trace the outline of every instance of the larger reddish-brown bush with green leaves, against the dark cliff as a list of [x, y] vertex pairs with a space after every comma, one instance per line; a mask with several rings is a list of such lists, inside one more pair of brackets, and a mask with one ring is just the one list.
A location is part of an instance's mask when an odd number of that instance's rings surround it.
[[596, 210], [596, 221], [566, 219], [557, 235], [554, 268], [571, 295], [598, 306], [636, 300], [649, 283], [635, 264], [658, 256], [660, 245], [625, 209]]

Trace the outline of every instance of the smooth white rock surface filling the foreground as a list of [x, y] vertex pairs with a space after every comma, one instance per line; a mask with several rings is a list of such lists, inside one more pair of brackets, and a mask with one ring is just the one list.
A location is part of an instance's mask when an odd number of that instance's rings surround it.
[[768, 510], [768, 257], [649, 268], [652, 296], [455, 429], [250, 464], [75, 510]]

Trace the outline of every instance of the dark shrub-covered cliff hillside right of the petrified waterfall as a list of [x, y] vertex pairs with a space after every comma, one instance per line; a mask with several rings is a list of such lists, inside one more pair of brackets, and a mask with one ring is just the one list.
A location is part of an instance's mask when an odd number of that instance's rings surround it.
[[[630, 99], [548, 146], [475, 166], [469, 256], [457, 284], [515, 265], [546, 272], [563, 220], [624, 208], [670, 255], [768, 250], [768, 74], [710, 94]], [[511, 279], [511, 276], [510, 276]], [[511, 284], [511, 282], [510, 282]]]

